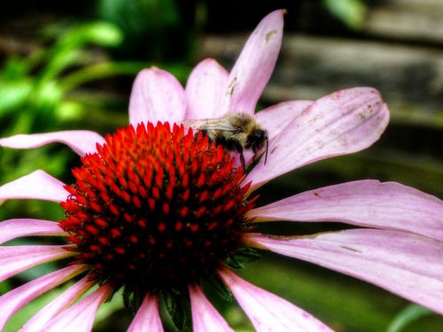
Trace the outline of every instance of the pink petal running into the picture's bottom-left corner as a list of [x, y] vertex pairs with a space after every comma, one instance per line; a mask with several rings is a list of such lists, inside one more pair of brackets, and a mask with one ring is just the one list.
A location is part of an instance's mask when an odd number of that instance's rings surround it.
[[11, 316], [27, 305], [35, 297], [39, 297], [44, 292], [57, 287], [77, 274], [81, 274], [86, 266], [68, 266], [51, 274], [44, 275], [32, 282], [7, 292], [0, 297], [0, 330], [3, 330], [6, 322]]

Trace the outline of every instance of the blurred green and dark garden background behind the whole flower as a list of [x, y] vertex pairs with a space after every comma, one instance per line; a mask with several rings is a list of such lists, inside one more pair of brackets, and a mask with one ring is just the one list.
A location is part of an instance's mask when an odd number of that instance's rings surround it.
[[[288, 11], [283, 50], [258, 109], [372, 86], [382, 92], [392, 120], [369, 150], [305, 166], [263, 187], [259, 205], [359, 179], [399, 181], [442, 198], [443, 0], [4, 1], [0, 136], [65, 129], [103, 135], [126, 126], [128, 97], [139, 70], [159, 66], [184, 84], [202, 58], [216, 58], [229, 69], [260, 19], [277, 8]], [[70, 183], [70, 168], [78, 163], [61, 144], [30, 151], [1, 149], [0, 184], [35, 169]], [[2, 205], [0, 220], [18, 216], [58, 220], [63, 212], [51, 203]], [[282, 223], [278, 234], [336, 228]], [[276, 232], [276, 225], [266, 230]], [[26, 243], [30, 241], [42, 243]], [[0, 283], [0, 293], [54, 268], [46, 264], [19, 274]], [[241, 274], [338, 331], [443, 330], [437, 314], [293, 259], [264, 255]], [[16, 331], [59, 291], [27, 305], [6, 330]], [[252, 330], [237, 305], [214, 301], [233, 328]], [[114, 297], [103, 306], [95, 330], [123, 331], [130, 319]]]

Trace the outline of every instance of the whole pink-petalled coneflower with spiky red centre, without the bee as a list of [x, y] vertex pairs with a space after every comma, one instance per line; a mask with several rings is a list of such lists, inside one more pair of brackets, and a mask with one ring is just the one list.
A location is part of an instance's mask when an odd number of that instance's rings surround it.
[[[37, 170], [0, 187], [0, 199], [60, 202], [64, 220], [0, 222], [0, 243], [60, 235], [65, 245], [0, 247], [0, 280], [56, 259], [67, 265], [0, 297], [0, 328], [35, 297], [81, 276], [23, 331], [89, 331], [97, 308], [122, 289], [136, 309], [129, 331], [162, 331], [162, 298], [178, 328], [229, 331], [202, 281], [226, 288], [258, 331], [328, 331], [322, 322], [232, 272], [238, 258], [275, 251], [372, 282], [443, 313], [443, 202], [399, 183], [354, 181], [255, 207], [254, 190], [323, 158], [361, 151], [385, 130], [389, 112], [375, 89], [345, 89], [314, 103], [276, 104], [256, 114], [268, 130], [268, 161], [244, 173], [235, 154], [180, 121], [253, 113], [276, 64], [283, 12], [263, 19], [227, 73], [212, 59], [186, 89], [158, 68], [136, 78], [128, 127], [16, 135], [0, 145], [66, 143], [81, 155], [66, 185]], [[250, 168], [251, 168], [250, 167]], [[254, 233], [262, 221], [337, 221], [360, 228], [306, 236]], [[277, 224], [276, 224], [277, 227]], [[77, 280], [77, 279], [76, 279]], [[94, 290], [91, 290], [97, 286]], [[82, 297], [85, 293], [86, 297]], [[81, 298], [82, 297], [82, 298]], [[189, 318], [189, 319], [188, 319]]]

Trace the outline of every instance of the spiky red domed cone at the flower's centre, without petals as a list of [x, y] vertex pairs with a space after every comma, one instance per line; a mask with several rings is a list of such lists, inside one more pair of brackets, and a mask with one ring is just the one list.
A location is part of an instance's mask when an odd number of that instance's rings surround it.
[[97, 282], [146, 292], [185, 287], [213, 275], [251, 227], [243, 168], [183, 127], [122, 128], [73, 174], [59, 223]]

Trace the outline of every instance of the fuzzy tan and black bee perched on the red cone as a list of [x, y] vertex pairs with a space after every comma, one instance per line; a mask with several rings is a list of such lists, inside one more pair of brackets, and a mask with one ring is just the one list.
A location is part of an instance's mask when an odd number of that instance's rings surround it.
[[231, 112], [220, 119], [184, 120], [185, 128], [191, 127], [198, 135], [201, 132], [211, 142], [223, 146], [227, 151], [237, 151], [240, 162], [245, 169], [243, 151], [252, 150], [255, 156], [266, 144], [265, 163], [268, 158], [268, 132], [260, 127], [259, 122], [251, 114]]

